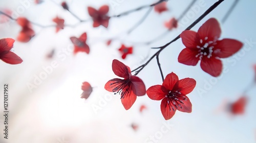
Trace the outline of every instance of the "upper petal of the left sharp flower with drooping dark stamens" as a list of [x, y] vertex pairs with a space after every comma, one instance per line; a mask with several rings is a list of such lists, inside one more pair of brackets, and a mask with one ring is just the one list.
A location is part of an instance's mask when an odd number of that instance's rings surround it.
[[126, 65], [116, 59], [112, 62], [112, 70], [118, 77], [122, 77], [124, 79], [129, 79], [130, 77], [130, 73]]

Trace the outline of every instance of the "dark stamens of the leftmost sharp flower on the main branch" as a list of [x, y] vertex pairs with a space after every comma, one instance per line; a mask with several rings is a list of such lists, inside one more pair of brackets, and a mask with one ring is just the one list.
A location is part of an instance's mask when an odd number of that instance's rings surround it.
[[131, 91], [132, 91], [132, 82], [131, 80], [127, 79], [127, 80], [111, 80], [111, 81], [115, 81], [113, 83], [110, 84], [112, 89], [112, 92], [115, 92], [114, 94], [121, 94], [121, 98], [124, 98], [125, 96], [130, 96]]

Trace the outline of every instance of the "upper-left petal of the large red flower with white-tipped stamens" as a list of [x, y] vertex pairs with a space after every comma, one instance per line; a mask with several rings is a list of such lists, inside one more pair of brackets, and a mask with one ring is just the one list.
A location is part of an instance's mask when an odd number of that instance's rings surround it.
[[180, 34], [182, 43], [191, 50], [197, 49], [197, 33], [191, 30], [185, 30]]

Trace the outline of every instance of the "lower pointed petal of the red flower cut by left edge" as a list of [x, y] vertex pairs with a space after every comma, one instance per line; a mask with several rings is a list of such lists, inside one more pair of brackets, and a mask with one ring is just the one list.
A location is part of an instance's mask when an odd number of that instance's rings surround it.
[[23, 60], [13, 52], [2, 55], [1, 60], [9, 64], [19, 64], [23, 62]]

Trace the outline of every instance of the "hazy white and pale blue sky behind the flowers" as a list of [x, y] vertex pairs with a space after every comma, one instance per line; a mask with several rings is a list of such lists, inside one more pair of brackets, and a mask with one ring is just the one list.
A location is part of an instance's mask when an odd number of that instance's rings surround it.
[[[152, 4], [156, 1], [137, 0], [97, 0], [97, 1], [66, 1], [70, 10], [81, 19], [88, 19], [87, 7], [98, 9], [103, 4], [120, 2], [114, 8], [110, 7], [110, 15], [131, 10], [143, 5]], [[198, 0], [195, 6], [199, 5]], [[40, 25], [53, 25], [52, 19], [59, 16], [65, 19], [65, 24], [74, 25], [78, 22], [68, 11], [63, 10], [52, 1], [44, 1], [35, 5], [34, 1], [23, 12], [17, 8], [22, 6], [21, 1], [1, 0], [0, 9], [9, 8], [16, 11], [19, 16], [25, 16], [29, 20], [40, 23]], [[62, 1], [54, 1], [60, 4]], [[200, 7], [194, 16], [182, 19], [177, 30], [169, 32], [164, 38], [151, 45], [137, 42], [154, 39], [166, 29], [163, 22], [172, 17], [179, 17], [190, 1], [168, 1], [169, 11], [158, 14], [154, 11], [146, 20], [130, 35], [125, 31], [130, 29], [144, 15], [147, 9], [131, 13], [120, 18], [110, 20], [109, 28], [93, 28], [92, 22], [84, 22], [75, 28], [65, 27], [55, 33], [55, 28], [34, 26], [36, 36], [28, 43], [15, 41], [13, 51], [20, 56], [24, 62], [18, 65], [10, 65], [0, 61], [0, 114], [4, 114], [3, 85], [9, 84], [9, 135], [4, 138], [4, 116], [0, 115], [0, 142], [12, 143], [80, 143], [80, 142], [255, 142], [256, 136], [256, 97], [255, 87], [247, 93], [249, 102], [245, 115], [230, 117], [226, 113], [216, 114], [215, 110], [223, 100], [236, 101], [243, 90], [252, 82], [254, 71], [252, 65], [256, 63], [255, 46], [250, 48], [246, 40], [256, 41], [256, 2], [253, 0], [240, 1], [227, 21], [221, 24], [221, 38], [234, 38], [244, 43], [243, 49], [236, 55], [223, 59], [223, 64], [228, 72], [219, 78], [212, 78], [197, 66], [187, 66], [178, 63], [178, 55], [184, 48], [181, 39], [169, 45], [161, 54], [160, 62], [164, 76], [176, 73], [180, 79], [189, 77], [197, 81], [197, 86], [188, 97], [193, 104], [193, 112], [183, 113], [177, 111], [169, 121], [165, 121], [161, 111], [160, 102], [152, 101], [146, 95], [138, 97], [130, 110], [125, 110], [121, 104], [120, 97], [114, 96], [104, 90], [104, 84], [113, 78], [111, 64], [113, 59], [118, 59], [129, 65], [132, 69], [141, 65], [147, 57], [153, 55], [157, 50], [151, 47], [161, 46], [175, 38], [182, 30], [189, 26], [203, 12], [205, 12], [216, 1], [203, 1], [204, 7]], [[192, 30], [198, 28], [210, 17], [219, 21], [224, 17], [234, 1], [224, 1], [218, 8], [207, 15]], [[193, 12], [193, 11], [192, 11]], [[0, 24], [0, 38], [16, 38], [20, 27], [15, 21], [8, 24]], [[68, 52], [67, 58], [59, 58], [62, 50], [72, 46], [69, 37], [79, 37], [87, 32], [87, 43], [90, 46], [90, 54]], [[123, 33], [123, 34], [120, 34]], [[105, 39], [120, 34], [120, 41], [115, 40], [111, 46], [106, 46]], [[121, 43], [134, 46], [134, 54], [128, 55], [125, 60], [121, 59], [119, 49]], [[46, 55], [55, 49], [53, 59], [46, 59]], [[246, 49], [246, 50], [245, 50]], [[249, 49], [249, 50], [248, 50]], [[52, 73], [42, 80], [42, 83], [29, 91], [27, 83], [34, 82], [34, 76], [39, 76], [43, 67], [51, 65], [52, 61], [58, 63]], [[144, 81], [146, 88], [161, 84], [161, 76], [157, 67], [156, 59], [153, 59], [138, 76]], [[94, 88], [91, 96], [80, 99], [81, 83], [88, 81]], [[200, 94], [198, 90], [205, 89], [209, 81], [214, 81], [207, 88], [206, 93]], [[103, 99], [108, 101], [103, 102]], [[104, 100], [105, 101], [105, 100]], [[147, 109], [142, 113], [139, 107], [144, 104]], [[98, 106], [100, 109], [93, 110]], [[131, 124], [138, 125], [134, 131]], [[169, 124], [167, 132], [161, 129]], [[154, 136], [156, 140], [150, 140]]]

